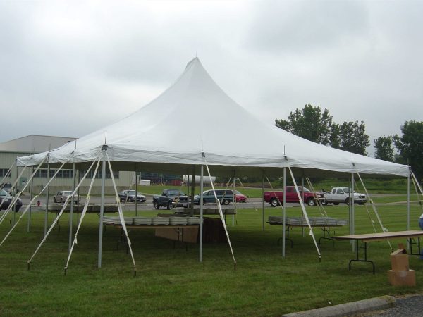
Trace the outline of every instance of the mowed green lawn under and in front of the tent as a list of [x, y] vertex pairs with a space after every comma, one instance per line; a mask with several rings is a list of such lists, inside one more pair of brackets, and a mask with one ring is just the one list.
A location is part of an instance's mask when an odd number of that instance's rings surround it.
[[[355, 206], [356, 233], [374, 232], [372, 209]], [[161, 213], [167, 211], [160, 211]], [[287, 208], [288, 216], [300, 216], [299, 207]], [[317, 207], [307, 207], [309, 216], [320, 216]], [[329, 216], [348, 219], [345, 205], [327, 206]], [[140, 211], [138, 211], [140, 213]], [[406, 229], [404, 205], [379, 206], [384, 226], [391, 231]], [[412, 206], [411, 229], [418, 230], [422, 213]], [[143, 212], [154, 216], [157, 211]], [[266, 208], [265, 218], [281, 215], [281, 208]], [[20, 216], [20, 213], [17, 214]], [[125, 212], [125, 216], [133, 216]], [[49, 215], [49, 223], [52, 216]], [[10, 230], [9, 217], [0, 225], [0, 237]], [[204, 244], [200, 263], [197, 244], [185, 251], [176, 244], [154, 237], [154, 230], [131, 230], [130, 239], [137, 263], [133, 276], [130, 255], [121, 247], [117, 228], [104, 231], [102, 268], [97, 268], [98, 216], [88, 215], [78, 235], [67, 275], [63, 266], [68, 256], [68, 215], [61, 230], [51, 232], [27, 270], [30, 259], [42, 240], [44, 213], [32, 215], [27, 232], [27, 217], [0, 247], [1, 316], [280, 316], [283, 313], [376, 297], [423, 291], [423, 261], [410, 256], [416, 270], [416, 287], [389, 285], [386, 271], [391, 268], [387, 242], [372, 242], [368, 256], [376, 265], [348, 261], [355, 257], [350, 242], [328, 240], [320, 246], [321, 261], [312, 238], [301, 229], [290, 232], [294, 246], [281, 256], [281, 226], [266, 223], [262, 231], [262, 211], [238, 209], [235, 225], [227, 217], [229, 234], [237, 262], [236, 270], [228, 244]], [[75, 217], [76, 220], [76, 217]], [[376, 228], [380, 232], [379, 225]], [[347, 235], [348, 226], [336, 228], [331, 235]], [[321, 230], [314, 230], [317, 239]], [[396, 249], [398, 242], [391, 240]]]

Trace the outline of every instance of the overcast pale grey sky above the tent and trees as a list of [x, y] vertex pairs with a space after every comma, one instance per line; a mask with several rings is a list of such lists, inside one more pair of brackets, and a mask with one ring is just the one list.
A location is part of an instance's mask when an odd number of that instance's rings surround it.
[[[198, 57], [274, 124], [305, 104], [373, 140], [423, 120], [423, 1], [0, 0], [0, 142], [82, 137]], [[259, 136], [258, 136], [259, 137]]]

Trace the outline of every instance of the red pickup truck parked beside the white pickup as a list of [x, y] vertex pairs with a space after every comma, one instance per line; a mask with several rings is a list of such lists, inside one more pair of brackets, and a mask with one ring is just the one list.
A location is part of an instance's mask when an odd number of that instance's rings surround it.
[[[300, 190], [300, 196], [302, 196], [302, 187], [298, 186], [298, 190]], [[317, 199], [321, 203], [324, 201], [324, 194], [321, 192], [316, 193]], [[283, 203], [283, 192], [281, 191], [272, 191], [272, 192], [264, 192], [264, 201], [271, 204], [272, 207], [279, 206], [279, 201], [281, 204]], [[309, 206], [314, 206], [316, 204], [316, 200], [314, 199], [314, 194], [309, 191], [309, 189], [304, 187], [304, 201]], [[300, 203], [300, 199], [298, 199], [298, 194], [295, 191], [294, 186], [286, 186], [286, 202], [290, 203]]]

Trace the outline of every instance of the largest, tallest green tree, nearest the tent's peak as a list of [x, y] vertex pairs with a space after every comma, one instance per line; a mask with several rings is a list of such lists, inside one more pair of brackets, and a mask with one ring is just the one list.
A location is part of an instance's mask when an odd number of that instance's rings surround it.
[[324, 145], [331, 144], [332, 116], [319, 106], [306, 104], [304, 108], [291, 112], [288, 120], [275, 120], [276, 127]]

